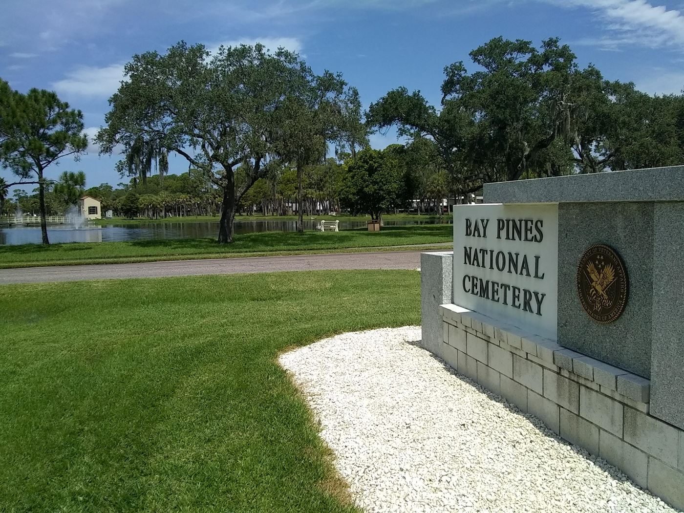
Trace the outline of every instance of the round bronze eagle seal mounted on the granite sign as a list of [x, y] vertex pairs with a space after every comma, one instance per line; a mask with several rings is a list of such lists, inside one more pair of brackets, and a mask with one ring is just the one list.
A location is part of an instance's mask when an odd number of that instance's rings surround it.
[[628, 287], [622, 259], [609, 246], [594, 244], [579, 259], [579, 302], [594, 321], [609, 324], [618, 319], [627, 305]]

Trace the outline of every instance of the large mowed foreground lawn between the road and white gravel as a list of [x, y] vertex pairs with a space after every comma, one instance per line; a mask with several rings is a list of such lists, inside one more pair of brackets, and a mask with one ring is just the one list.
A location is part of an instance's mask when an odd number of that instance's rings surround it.
[[419, 324], [419, 273], [0, 287], [0, 510], [350, 512], [287, 347]]

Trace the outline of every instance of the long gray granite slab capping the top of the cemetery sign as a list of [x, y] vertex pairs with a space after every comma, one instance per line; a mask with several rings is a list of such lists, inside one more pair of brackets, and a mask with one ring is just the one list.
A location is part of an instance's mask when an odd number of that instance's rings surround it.
[[684, 201], [684, 166], [486, 183], [487, 203]]

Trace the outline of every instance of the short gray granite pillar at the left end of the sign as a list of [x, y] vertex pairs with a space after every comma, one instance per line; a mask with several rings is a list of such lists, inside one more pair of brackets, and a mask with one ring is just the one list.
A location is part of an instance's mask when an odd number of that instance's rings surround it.
[[421, 253], [421, 345], [442, 356], [442, 315], [439, 305], [451, 303], [453, 251]]

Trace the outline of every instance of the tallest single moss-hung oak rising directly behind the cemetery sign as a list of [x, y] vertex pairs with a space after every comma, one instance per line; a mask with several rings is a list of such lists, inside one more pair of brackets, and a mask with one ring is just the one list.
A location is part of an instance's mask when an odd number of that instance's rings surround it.
[[456, 194], [540, 168], [568, 172], [570, 141], [577, 140], [582, 107], [595, 87], [593, 68], [579, 70], [573, 52], [557, 38], [539, 49], [529, 41], [495, 38], [470, 56], [472, 73], [463, 62], [445, 68], [439, 109], [420, 92], [397, 88], [371, 104], [369, 124], [433, 140]]

